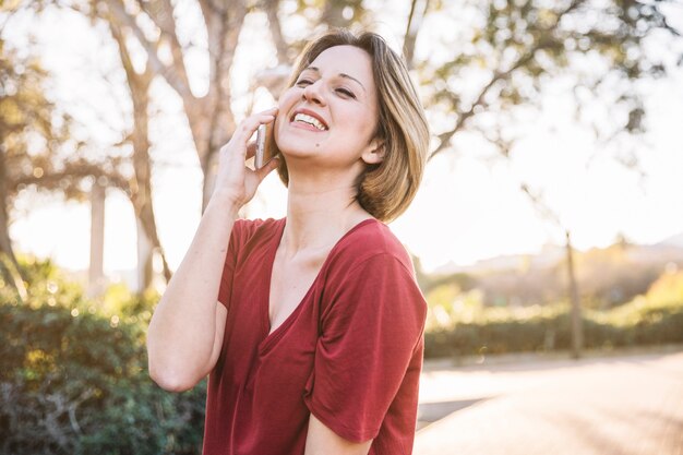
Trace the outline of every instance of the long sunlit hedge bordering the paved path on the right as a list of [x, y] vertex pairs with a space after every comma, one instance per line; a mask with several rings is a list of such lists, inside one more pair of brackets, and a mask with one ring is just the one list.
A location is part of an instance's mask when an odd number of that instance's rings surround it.
[[[488, 308], [472, 292], [457, 295], [446, 306], [428, 296], [426, 357], [571, 348], [568, 303]], [[588, 349], [683, 343], [683, 273], [664, 273], [645, 295], [623, 306], [584, 311], [583, 322]]]

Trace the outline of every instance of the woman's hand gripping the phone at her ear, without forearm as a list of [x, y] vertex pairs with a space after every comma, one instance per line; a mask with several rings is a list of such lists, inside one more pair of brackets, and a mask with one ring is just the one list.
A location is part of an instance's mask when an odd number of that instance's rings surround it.
[[259, 184], [273, 169], [279, 166], [279, 158], [273, 158], [261, 169], [252, 170], [244, 166], [255, 152], [255, 144], [248, 143], [260, 124], [275, 120], [277, 108], [247, 117], [235, 130], [230, 141], [220, 147], [218, 175], [213, 194], [221, 194], [231, 200], [236, 208], [247, 204], [254, 196]]

